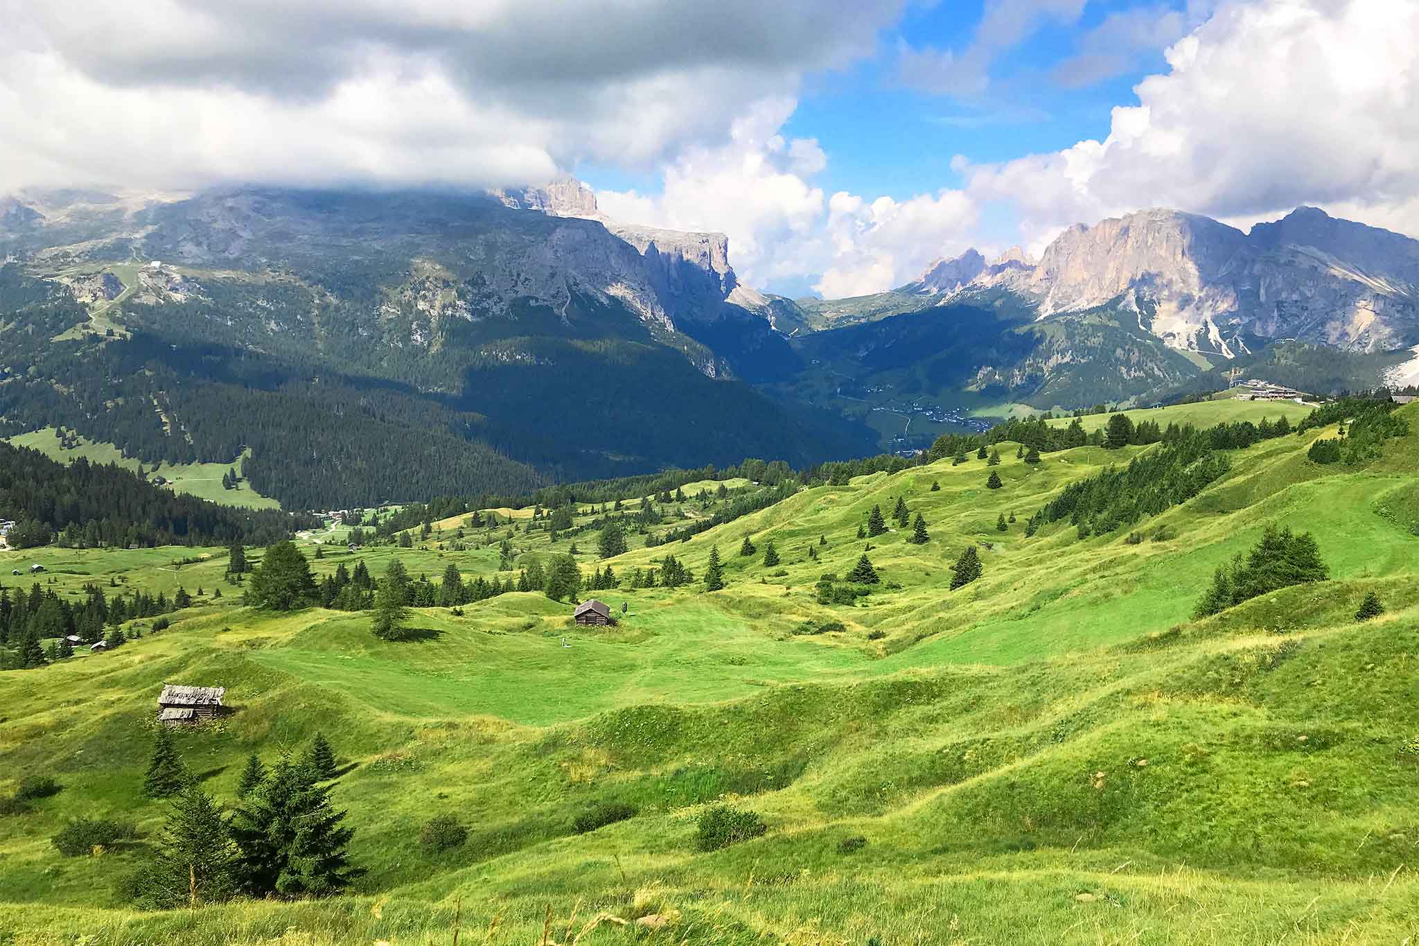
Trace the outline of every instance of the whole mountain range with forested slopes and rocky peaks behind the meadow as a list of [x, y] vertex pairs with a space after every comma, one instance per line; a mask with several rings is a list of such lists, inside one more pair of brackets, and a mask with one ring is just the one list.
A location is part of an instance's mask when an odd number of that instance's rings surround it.
[[742, 285], [724, 234], [610, 220], [572, 179], [24, 193], [0, 258], [4, 433], [250, 451], [253, 486], [302, 508], [806, 465], [1230, 369], [1368, 386], [1419, 343], [1419, 241], [1310, 207], [1250, 233], [1144, 210], [829, 301]]

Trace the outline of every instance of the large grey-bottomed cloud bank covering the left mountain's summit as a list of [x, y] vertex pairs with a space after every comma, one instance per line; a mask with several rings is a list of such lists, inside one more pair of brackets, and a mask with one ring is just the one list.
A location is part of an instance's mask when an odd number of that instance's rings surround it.
[[0, 0], [0, 189], [650, 166], [870, 54], [901, 1]]

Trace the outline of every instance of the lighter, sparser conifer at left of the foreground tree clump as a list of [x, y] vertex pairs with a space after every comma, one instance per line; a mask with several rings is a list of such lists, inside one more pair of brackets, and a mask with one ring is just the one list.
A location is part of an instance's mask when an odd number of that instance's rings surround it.
[[194, 909], [237, 894], [237, 847], [221, 807], [196, 783], [173, 798], [139, 888], [142, 902], [158, 909]]

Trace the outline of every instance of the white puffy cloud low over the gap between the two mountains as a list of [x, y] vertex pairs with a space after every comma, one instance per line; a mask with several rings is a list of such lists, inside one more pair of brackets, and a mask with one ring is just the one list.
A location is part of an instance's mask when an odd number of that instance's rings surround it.
[[623, 223], [728, 234], [739, 278], [756, 286], [817, 278], [824, 296], [863, 295], [915, 277], [942, 251], [964, 250], [973, 201], [942, 190], [897, 201], [846, 191], [824, 199], [812, 182], [827, 156], [812, 139], [785, 140], [792, 99], [759, 102], [729, 142], [692, 148], [664, 169], [661, 193], [597, 191]]

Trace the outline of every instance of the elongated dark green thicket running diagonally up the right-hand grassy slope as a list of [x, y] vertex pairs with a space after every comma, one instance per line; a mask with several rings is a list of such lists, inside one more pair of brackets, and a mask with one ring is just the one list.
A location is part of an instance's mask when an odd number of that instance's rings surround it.
[[1283, 418], [1277, 424], [1242, 421], [1206, 430], [1169, 424], [1162, 434], [1162, 450], [1135, 457], [1124, 468], [1108, 467], [1086, 479], [1067, 485], [1059, 496], [1036, 512], [1026, 523], [1032, 536], [1043, 525], [1067, 519], [1078, 526], [1080, 538], [1105, 535], [1132, 525], [1142, 516], [1155, 516], [1186, 502], [1216, 482], [1230, 468], [1223, 450], [1250, 447], [1270, 437], [1290, 433]]

